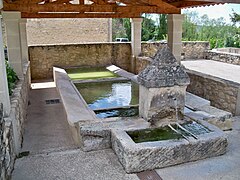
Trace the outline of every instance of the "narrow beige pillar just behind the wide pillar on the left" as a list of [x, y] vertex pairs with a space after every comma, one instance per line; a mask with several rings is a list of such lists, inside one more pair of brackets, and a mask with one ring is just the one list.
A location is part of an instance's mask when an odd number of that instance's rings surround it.
[[23, 63], [28, 62], [28, 44], [27, 44], [27, 19], [22, 18], [19, 22], [20, 27], [20, 39], [21, 39], [21, 50], [22, 50], [22, 61]]

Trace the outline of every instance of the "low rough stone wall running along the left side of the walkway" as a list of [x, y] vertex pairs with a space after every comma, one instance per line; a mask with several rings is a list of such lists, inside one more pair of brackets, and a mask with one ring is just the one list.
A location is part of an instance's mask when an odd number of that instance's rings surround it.
[[11, 96], [11, 111], [3, 117], [3, 106], [0, 103], [0, 179], [10, 179], [16, 155], [22, 144], [24, 121], [27, 115], [30, 83], [29, 64], [24, 67], [21, 78]]

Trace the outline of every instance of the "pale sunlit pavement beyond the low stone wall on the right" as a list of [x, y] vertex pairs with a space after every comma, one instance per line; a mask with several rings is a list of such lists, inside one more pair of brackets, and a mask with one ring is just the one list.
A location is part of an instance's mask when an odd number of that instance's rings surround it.
[[212, 60], [181, 62], [187, 69], [240, 83], [240, 66]]

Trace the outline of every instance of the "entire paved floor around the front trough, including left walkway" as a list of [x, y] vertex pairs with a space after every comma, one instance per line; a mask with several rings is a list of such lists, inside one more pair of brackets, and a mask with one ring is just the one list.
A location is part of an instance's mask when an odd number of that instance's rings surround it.
[[[46, 105], [58, 98], [55, 88], [32, 90], [23, 151], [16, 160], [13, 180], [137, 180], [126, 174], [111, 149], [83, 152], [73, 144], [61, 104]], [[236, 117], [227, 154], [156, 170], [163, 180], [237, 180], [240, 177], [240, 117]]]

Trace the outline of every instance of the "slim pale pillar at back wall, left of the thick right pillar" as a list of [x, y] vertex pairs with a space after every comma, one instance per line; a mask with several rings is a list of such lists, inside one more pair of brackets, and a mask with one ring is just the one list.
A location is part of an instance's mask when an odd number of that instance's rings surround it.
[[130, 21], [132, 55], [136, 57], [141, 53], [142, 18], [131, 18]]

